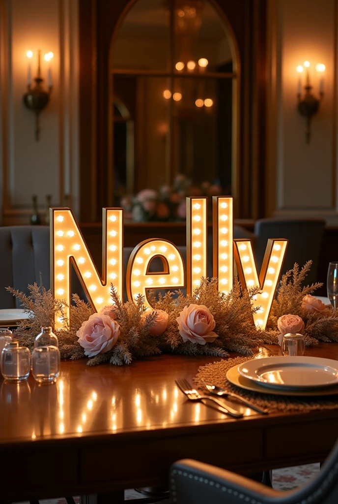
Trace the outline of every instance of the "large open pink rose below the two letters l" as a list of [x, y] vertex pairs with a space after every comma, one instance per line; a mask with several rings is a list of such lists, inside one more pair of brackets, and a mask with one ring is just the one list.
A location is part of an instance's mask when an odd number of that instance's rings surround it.
[[218, 336], [213, 332], [216, 325], [214, 317], [204, 304], [185, 306], [176, 322], [184, 342], [189, 340], [192, 343], [205, 345], [214, 341]]

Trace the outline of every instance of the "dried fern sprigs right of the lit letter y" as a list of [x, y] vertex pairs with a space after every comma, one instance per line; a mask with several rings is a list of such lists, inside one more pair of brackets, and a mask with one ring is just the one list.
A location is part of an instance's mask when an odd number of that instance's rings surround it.
[[316, 345], [318, 341], [338, 341], [338, 312], [331, 307], [328, 313], [315, 313], [302, 307], [304, 296], [312, 294], [322, 286], [315, 283], [303, 287], [303, 282], [310, 271], [312, 261], [308, 261], [301, 270], [298, 264], [282, 276], [277, 299], [274, 300], [268, 320], [268, 330], [278, 334], [277, 321], [285, 314], [298, 315], [305, 324], [304, 336], [307, 346]]

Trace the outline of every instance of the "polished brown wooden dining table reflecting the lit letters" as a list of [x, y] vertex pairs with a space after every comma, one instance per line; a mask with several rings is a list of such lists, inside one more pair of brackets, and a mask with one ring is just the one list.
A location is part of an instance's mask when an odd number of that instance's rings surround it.
[[[338, 359], [338, 344], [307, 354]], [[125, 488], [165, 484], [171, 463], [187, 457], [243, 474], [325, 458], [338, 437], [338, 409], [233, 419], [187, 402], [175, 379], [191, 379], [213, 360], [63, 361], [56, 385], [2, 381], [1, 502], [108, 492], [121, 502]]]

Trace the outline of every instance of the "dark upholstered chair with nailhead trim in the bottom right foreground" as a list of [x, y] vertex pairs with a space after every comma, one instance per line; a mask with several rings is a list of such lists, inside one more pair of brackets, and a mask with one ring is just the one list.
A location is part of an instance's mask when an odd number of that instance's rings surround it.
[[180, 460], [170, 471], [172, 501], [177, 504], [336, 504], [338, 502], [338, 443], [318, 476], [295, 490], [277, 491], [230, 471]]

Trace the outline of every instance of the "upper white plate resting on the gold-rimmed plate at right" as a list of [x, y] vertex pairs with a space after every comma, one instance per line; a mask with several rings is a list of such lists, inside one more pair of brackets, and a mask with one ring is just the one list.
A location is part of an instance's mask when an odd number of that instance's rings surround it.
[[263, 387], [306, 390], [338, 385], [338, 361], [319, 357], [266, 357], [238, 366], [238, 372]]

